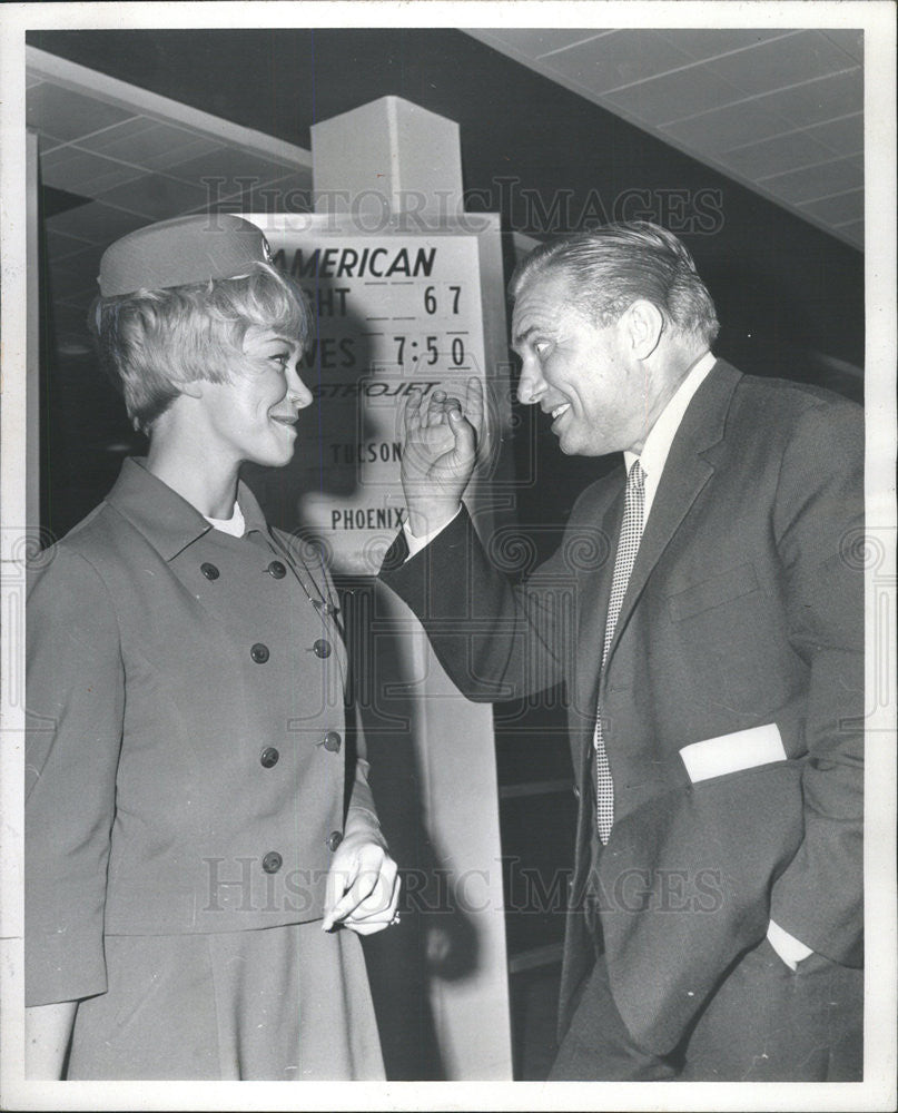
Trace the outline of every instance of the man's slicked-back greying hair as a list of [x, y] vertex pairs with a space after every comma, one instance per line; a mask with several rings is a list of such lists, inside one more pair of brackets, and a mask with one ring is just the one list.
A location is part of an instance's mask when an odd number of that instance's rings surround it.
[[711, 344], [720, 329], [692, 256], [677, 236], [648, 220], [606, 224], [541, 245], [512, 275], [512, 299], [551, 274], [568, 279], [571, 304], [602, 326], [644, 298], [672, 329], [703, 344]]

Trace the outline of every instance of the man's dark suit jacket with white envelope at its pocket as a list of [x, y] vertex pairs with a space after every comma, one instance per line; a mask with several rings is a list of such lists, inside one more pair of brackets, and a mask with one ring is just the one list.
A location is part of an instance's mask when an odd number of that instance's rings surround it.
[[[381, 573], [471, 699], [564, 681], [581, 789], [572, 912], [601, 697], [615, 819], [592, 887], [615, 1003], [658, 1054], [771, 918], [861, 964], [862, 467], [859, 406], [718, 361], [671, 446], [601, 678], [622, 467], [583, 492], [561, 549], [520, 588], [466, 512], [404, 563], [397, 539]], [[773, 723], [780, 760], [754, 745]], [[680, 751], [703, 740], [736, 768], [693, 782]], [[591, 949], [569, 915], [562, 1033]]]

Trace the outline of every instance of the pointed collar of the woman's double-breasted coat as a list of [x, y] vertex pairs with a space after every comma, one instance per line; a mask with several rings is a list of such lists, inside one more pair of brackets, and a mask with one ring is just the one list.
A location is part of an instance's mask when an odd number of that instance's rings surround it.
[[[118, 481], [106, 501], [138, 529], [166, 560], [172, 560], [211, 524], [167, 483], [148, 472], [144, 457], [131, 456], [121, 465]], [[237, 502], [246, 520], [246, 531], [268, 525], [255, 495], [243, 482], [237, 484]]]

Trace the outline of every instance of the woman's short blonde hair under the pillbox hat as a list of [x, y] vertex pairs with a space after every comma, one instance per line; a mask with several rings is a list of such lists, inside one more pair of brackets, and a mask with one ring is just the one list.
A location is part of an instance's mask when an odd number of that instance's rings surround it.
[[231, 381], [249, 328], [275, 328], [304, 348], [312, 313], [293, 279], [255, 263], [239, 278], [98, 297], [89, 324], [103, 371], [147, 433], [184, 383]]

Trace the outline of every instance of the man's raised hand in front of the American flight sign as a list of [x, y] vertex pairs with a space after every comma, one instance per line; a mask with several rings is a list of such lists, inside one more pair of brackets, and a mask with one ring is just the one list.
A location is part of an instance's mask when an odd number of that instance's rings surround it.
[[440, 529], [458, 510], [484, 436], [480, 378], [468, 378], [464, 407], [445, 391], [409, 397], [403, 414], [402, 485], [415, 536]]

